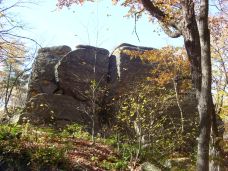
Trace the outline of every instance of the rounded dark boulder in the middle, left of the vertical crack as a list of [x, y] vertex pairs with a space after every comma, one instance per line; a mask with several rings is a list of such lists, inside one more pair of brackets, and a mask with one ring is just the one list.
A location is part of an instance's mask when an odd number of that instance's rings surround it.
[[[81, 101], [92, 98], [92, 84], [96, 84], [96, 96], [102, 99], [106, 86], [109, 52], [92, 46], [77, 46], [64, 57], [58, 66], [58, 81], [64, 94]], [[94, 82], [96, 81], [96, 83]]]

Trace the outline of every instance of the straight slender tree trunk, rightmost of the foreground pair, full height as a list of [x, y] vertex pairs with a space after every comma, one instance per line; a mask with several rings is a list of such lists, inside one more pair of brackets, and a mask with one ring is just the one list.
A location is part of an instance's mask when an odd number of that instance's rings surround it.
[[211, 131], [211, 56], [210, 32], [208, 29], [208, 0], [200, 2], [199, 34], [201, 45], [202, 82], [198, 111], [200, 117], [200, 135], [198, 139], [197, 170], [209, 170], [209, 141]]

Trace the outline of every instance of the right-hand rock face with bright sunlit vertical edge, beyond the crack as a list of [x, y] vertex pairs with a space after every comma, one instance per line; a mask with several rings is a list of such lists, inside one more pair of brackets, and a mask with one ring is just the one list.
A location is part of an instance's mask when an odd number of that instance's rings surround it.
[[[150, 72], [156, 64], [142, 61], [140, 57], [131, 56], [126, 53], [126, 51], [143, 53], [146, 50], [153, 50], [153, 48], [123, 43], [111, 53], [107, 79], [109, 83], [109, 95], [105, 99], [106, 103], [112, 103], [111, 101], [113, 99], [134, 90], [136, 84], [146, 81], [146, 78], [151, 75]], [[111, 106], [111, 108], [111, 111], [118, 110], [117, 106]]]

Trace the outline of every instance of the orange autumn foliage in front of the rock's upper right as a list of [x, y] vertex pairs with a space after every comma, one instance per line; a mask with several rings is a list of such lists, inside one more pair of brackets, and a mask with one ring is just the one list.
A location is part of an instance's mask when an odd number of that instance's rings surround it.
[[[124, 51], [132, 57], [140, 57], [142, 61], [156, 63], [156, 69], [151, 70], [151, 77], [147, 80], [153, 81], [158, 86], [166, 86], [172, 84], [173, 79], [177, 77], [190, 77], [189, 61], [185, 51], [182, 48], [164, 47], [160, 50], [150, 50], [145, 52]], [[181, 80], [181, 87], [189, 89], [189, 81]]]

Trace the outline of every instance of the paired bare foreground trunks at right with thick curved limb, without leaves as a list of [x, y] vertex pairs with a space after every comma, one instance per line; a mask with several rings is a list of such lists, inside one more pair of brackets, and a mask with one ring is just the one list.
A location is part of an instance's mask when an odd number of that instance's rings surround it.
[[[192, 82], [196, 92], [199, 112], [199, 139], [197, 170], [209, 169], [209, 141], [214, 106], [211, 94], [210, 33], [208, 29], [208, 0], [200, 1], [199, 24], [197, 25], [194, 0], [181, 0], [181, 21], [168, 25], [184, 37], [185, 48], [191, 64]], [[166, 15], [151, 0], [142, 0], [149, 13], [163, 22]], [[164, 23], [169, 24], [169, 23]], [[167, 33], [167, 32], [166, 32]], [[168, 34], [169, 35], [169, 34]], [[179, 35], [179, 34], [178, 34]], [[172, 36], [171, 36], [172, 37]], [[175, 37], [175, 36], [173, 36]], [[216, 125], [213, 124], [213, 131]]]

